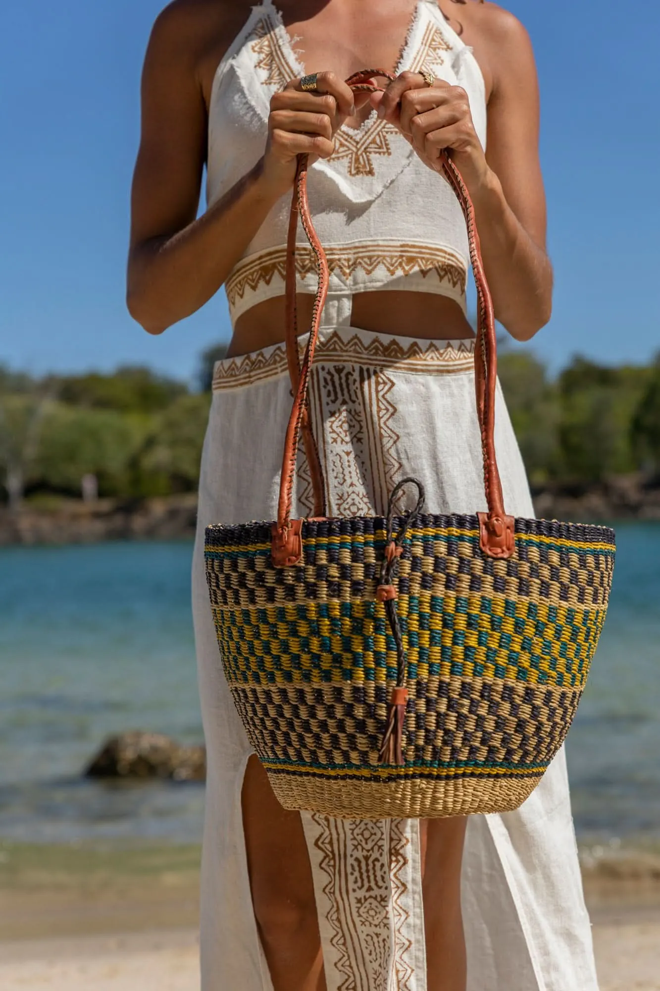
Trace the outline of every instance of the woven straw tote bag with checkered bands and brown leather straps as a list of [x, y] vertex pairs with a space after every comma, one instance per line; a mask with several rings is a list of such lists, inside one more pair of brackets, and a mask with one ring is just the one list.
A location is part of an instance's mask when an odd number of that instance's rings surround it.
[[[354, 89], [376, 88], [369, 70]], [[495, 320], [469, 193], [451, 159], [477, 283], [475, 358], [488, 512], [431, 515], [414, 479], [387, 517], [325, 516], [307, 413], [328, 268], [298, 161], [287, 246], [286, 352], [294, 391], [277, 519], [206, 529], [205, 567], [225, 675], [286, 809], [350, 819], [517, 808], [575, 715], [605, 621], [614, 534], [514, 519], [494, 444]], [[295, 326], [298, 215], [319, 285], [302, 363]], [[291, 519], [302, 436], [315, 516]], [[414, 510], [396, 515], [402, 487]]]

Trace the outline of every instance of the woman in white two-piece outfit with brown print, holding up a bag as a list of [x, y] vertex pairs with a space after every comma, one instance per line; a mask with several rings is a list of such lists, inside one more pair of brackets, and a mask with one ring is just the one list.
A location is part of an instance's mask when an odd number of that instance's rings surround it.
[[[396, 80], [354, 100], [343, 80], [366, 65]], [[563, 750], [506, 815], [285, 812], [234, 708], [204, 577], [207, 524], [275, 518], [299, 153], [312, 157], [330, 267], [311, 402], [328, 515], [384, 513], [412, 469], [427, 511], [486, 508], [468, 240], [438, 156], [450, 150], [475, 203], [495, 315], [528, 340], [549, 319], [552, 272], [524, 29], [473, 0], [174, 0], [154, 27], [142, 101], [130, 311], [160, 334], [224, 285], [233, 326], [214, 370], [193, 561], [208, 750], [203, 991], [597, 991]], [[304, 330], [316, 272], [299, 240]], [[496, 423], [508, 510], [532, 516], [499, 393]], [[297, 516], [313, 513], [310, 494], [301, 459]]]

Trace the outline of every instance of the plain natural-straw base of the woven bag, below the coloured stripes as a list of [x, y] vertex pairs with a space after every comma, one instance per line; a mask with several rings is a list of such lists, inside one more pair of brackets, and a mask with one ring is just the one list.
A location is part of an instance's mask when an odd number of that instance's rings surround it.
[[529, 798], [542, 777], [382, 783], [268, 774], [284, 809], [317, 812], [334, 819], [446, 819], [512, 812]]

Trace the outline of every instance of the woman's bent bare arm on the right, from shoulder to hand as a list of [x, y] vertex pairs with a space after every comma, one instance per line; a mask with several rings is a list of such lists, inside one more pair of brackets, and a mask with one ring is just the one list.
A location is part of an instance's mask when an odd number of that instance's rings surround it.
[[417, 73], [403, 73], [382, 101], [372, 99], [383, 103], [387, 119], [429, 167], [437, 167], [441, 151], [451, 150], [475, 205], [495, 316], [512, 337], [526, 341], [552, 309], [536, 66], [529, 37], [512, 15], [490, 5], [482, 13], [493, 52], [486, 156], [461, 87], [437, 80], [429, 88]]

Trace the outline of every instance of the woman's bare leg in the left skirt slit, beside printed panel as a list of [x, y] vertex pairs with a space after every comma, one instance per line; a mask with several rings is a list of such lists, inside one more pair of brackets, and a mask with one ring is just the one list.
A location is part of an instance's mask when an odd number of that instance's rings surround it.
[[300, 816], [281, 808], [254, 755], [243, 783], [243, 825], [255, 917], [275, 991], [326, 991]]

